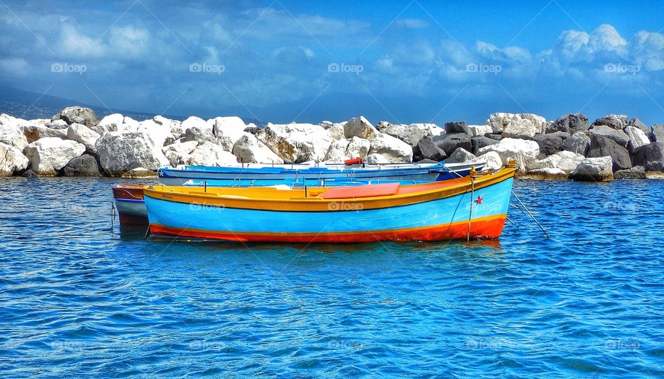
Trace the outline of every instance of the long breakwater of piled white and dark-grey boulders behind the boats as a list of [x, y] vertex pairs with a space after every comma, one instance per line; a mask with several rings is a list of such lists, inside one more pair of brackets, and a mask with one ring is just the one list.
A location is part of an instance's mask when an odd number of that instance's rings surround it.
[[420, 160], [486, 162], [510, 158], [520, 175], [539, 179], [609, 181], [664, 171], [664, 124], [607, 115], [547, 121], [530, 113], [493, 113], [481, 125], [463, 121], [374, 126], [360, 116], [319, 124], [246, 124], [237, 117], [184, 121], [157, 115], [137, 121], [121, 114], [100, 119], [82, 107], [50, 120], [0, 115], [0, 176], [154, 175], [166, 165], [242, 163], [409, 163]]

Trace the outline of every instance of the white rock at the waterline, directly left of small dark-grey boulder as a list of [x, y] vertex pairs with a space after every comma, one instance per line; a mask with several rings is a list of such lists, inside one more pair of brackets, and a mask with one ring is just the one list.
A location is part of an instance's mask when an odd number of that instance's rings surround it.
[[82, 143], [57, 137], [42, 138], [26, 147], [30, 169], [42, 176], [57, 175], [57, 170], [84, 152], [85, 146]]

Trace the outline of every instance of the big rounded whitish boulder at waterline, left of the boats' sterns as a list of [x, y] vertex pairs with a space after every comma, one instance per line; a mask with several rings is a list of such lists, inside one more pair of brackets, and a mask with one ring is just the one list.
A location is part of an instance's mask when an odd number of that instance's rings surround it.
[[104, 133], [95, 147], [102, 168], [113, 176], [138, 167], [156, 170], [169, 163], [161, 149], [154, 146], [145, 133], [138, 131]]

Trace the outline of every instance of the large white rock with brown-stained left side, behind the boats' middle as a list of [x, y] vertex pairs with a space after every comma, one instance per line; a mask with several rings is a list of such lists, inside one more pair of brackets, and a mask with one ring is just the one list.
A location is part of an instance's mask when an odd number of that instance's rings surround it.
[[267, 124], [256, 137], [288, 163], [323, 160], [332, 143], [329, 131], [314, 124]]

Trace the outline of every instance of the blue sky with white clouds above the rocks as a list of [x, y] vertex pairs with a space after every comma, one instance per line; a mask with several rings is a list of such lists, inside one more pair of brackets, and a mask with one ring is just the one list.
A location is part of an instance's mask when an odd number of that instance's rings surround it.
[[664, 123], [664, 2], [0, 1], [0, 84], [261, 122]]

